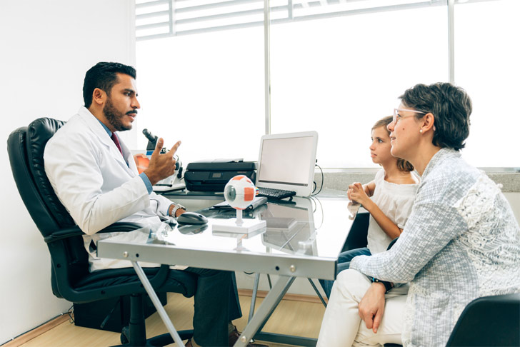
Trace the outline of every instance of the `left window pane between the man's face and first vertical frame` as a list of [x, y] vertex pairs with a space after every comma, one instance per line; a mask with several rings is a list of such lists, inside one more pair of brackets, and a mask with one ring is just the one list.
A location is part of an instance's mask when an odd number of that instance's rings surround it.
[[[195, 2], [202, 1], [175, 1], [178, 10]], [[191, 34], [181, 31], [179, 24], [171, 35], [154, 33], [160, 39], [137, 42], [141, 112], [135, 127], [164, 137], [167, 148], [181, 140], [177, 153], [184, 163], [223, 158], [256, 161], [265, 129], [264, 31], [261, 26], [207, 29], [208, 24], [197, 21], [201, 18], [197, 16], [215, 18], [211, 13], [215, 9], [200, 6], [181, 11], [183, 17], [176, 14], [177, 21], [193, 19], [189, 26], [181, 22], [182, 30]], [[219, 25], [236, 24], [234, 18], [226, 20], [224, 16]], [[139, 136], [137, 148], [145, 149], [146, 143]]]

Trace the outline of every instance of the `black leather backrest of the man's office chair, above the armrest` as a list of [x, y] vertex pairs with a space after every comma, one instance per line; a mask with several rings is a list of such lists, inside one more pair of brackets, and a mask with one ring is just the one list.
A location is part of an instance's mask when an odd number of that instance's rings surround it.
[[47, 141], [63, 125], [63, 121], [56, 119], [36, 119], [29, 126], [13, 131], [7, 140], [14, 181], [31, 218], [44, 237], [75, 224], [54, 193], [44, 169]]

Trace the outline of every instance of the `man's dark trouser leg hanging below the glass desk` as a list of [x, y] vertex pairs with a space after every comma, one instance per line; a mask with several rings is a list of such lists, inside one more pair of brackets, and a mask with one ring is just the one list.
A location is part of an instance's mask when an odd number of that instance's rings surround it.
[[194, 296], [194, 339], [200, 346], [228, 346], [228, 323], [242, 316], [235, 273], [186, 268], [198, 277]]

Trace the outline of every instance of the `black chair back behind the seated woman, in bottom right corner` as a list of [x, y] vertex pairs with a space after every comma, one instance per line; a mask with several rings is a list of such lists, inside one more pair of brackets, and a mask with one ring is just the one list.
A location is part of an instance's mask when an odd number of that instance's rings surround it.
[[520, 346], [520, 293], [471, 301], [446, 346]]

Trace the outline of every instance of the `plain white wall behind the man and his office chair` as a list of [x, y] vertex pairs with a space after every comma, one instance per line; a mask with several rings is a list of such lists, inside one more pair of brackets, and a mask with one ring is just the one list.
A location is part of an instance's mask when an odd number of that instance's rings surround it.
[[42, 116], [69, 119], [98, 61], [135, 65], [134, 1], [0, 0], [0, 344], [67, 311], [51, 293], [49, 251], [26, 211], [6, 140]]

